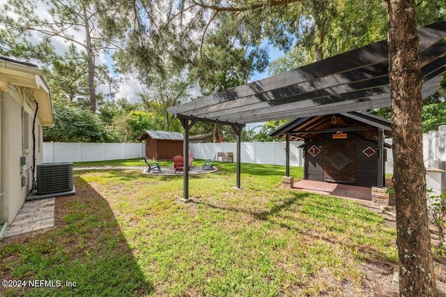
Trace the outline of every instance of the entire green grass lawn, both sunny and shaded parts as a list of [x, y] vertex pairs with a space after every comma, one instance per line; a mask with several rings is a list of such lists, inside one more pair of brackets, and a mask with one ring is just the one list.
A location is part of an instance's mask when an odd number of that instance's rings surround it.
[[397, 261], [380, 215], [282, 189], [282, 166], [243, 164], [238, 190], [235, 163], [215, 164], [190, 176], [187, 204], [182, 176], [75, 172], [77, 194], [56, 199], [54, 229], [0, 242], [0, 278], [76, 286], [0, 295], [364, 296], [364, 265]]

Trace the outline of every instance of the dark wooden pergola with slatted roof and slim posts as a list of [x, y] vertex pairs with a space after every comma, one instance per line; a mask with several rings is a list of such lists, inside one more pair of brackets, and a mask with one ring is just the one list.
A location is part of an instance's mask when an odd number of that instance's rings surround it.
[[[435, 93], [446, 72], [446, 20], [418, 29], [422, 97]], [[246, 123], [294, 119], [390, 106], [387, 40], [323, 61], [250, 82], [181, 105], [168, 112], [184, 128], [188, 162], [189, 130], [197, 121], [231, 125], [237, 137], [236, 188], [240, 188], [240, 132]], [[383, 135], [383, 133], [381, 133]], [[289, 137], [286, 137], [289, 175]], [[183, 172], [183, 199], [189, 199], [189, 174]]]

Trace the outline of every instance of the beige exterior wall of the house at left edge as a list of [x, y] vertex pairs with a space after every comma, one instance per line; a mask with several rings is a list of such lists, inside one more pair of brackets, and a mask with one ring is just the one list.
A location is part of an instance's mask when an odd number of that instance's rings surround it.
[[[1, 91], [2, 102], [1, 112], [1, 196], [0, 201], [0, 221], [13, 222], [18, 211], [24, 204], [26, 196], [31, 191], [33, 185], [33, 116], [36, 105], [29, 98], [33, 91], [27, 90], [23, 93], [15, 87], [8, 91]], [[24, 98], [22, 98], [24, 96]], [[32, 95], [31, 95], [32, 96]], [[22, 121], [23, 116], [27, 117]], [[27, 123], [24, 128], [22, 123]], [[22, 132], [26, 135], [22, 138]], [[40, 116], [36, 118], [36, 165], [43, 162], [43, 130]], [[28, 148], [23, 144], [28, 143]], [[26, 164], [20, 165], [20, 157], [26, 158]], [[24, 185], [22, 186], [22, 178]]]

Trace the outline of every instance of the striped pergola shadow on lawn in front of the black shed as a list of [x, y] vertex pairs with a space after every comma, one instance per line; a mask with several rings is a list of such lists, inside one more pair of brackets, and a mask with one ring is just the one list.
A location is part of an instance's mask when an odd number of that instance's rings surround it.
[[[355, 206], [353, 202], [344, 201], [341, 198], [316, 195], [310, 192], [293, 191], [289, 199], [284, 199], [278, 204], [274, 204], [268, 211], [262, 212], [230, 206], [218, 206], [203, 201], [193, 201], [192, 203], [205, 205], [206, 207], [220, 209], [222, 211], [252, 215], [256, 220], [274, 222], [280, 228], [305, 234], [309, 240], [311, 238], [311, 240], [325, 241], [333, 245], [344, 245], [346, 248], [359, 252], [361, 259], [378, 259], [379, 261], [384, 261], [386, 264], [394, 263], [394, 259], [390, 255], [385, 254], [373, 244], [368, 243], [368, 241], [376, 240], [369, 233], [368, 224], [380, 224], [382, 220], [371, 211], [363, 209], [362, 206]], [[344, 203], [351, 203], [351, 206]], [[289, 213], [286, 214], [286, 212]], [[304, 214], [308, 220], [305, 222], [302, 221], [302, 216], [293, 215], [295, 212]], [[353, 216], [355, 220], [349, 220]], [[289, 220], [293, 222], [289, 222]], [[317, 224], [318, 227], [313, 228], [312, 222]], [[344, 226], [344, 224], [348, 226]], [[324, 226], [322, 229], [325, 229], [325, 231], [317, 231], [322, 225]], [[350, 229], [349, 227], [353, 228]], [[350, 238], [350, 241], [344, 241], [346, 232], [350, 236], [353, 236], [353, 238]], [[336, 235], [332, 237], [329, 234], [339, 234], [339, 238]], [[364, 244], [360, 244], [360, 242], [364, 242]]]

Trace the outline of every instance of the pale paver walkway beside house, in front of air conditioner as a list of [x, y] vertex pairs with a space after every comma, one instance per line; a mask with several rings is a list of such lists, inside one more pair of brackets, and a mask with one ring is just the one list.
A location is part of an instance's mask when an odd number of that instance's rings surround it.
[[11, 237], [20, 234], [54, 227], [54, 202], [56, 198], [26, 201], [13, 223], [8, 226], [3, 236]]

